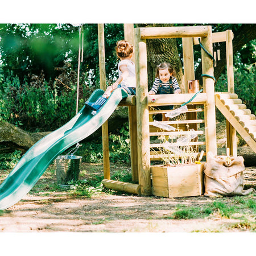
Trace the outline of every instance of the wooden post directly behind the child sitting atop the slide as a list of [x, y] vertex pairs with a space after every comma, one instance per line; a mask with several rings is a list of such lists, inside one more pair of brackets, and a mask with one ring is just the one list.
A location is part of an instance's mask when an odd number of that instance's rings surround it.
[[[123, 24], [125, 32], [125, 40], [133, 44], [135, 52], [134, 41], [134, 26], [133, 24]], [[135, 53], [132, 60], [135, 63]], [[130, 130], [130, 145], [131, 145], [131, 177], [133, 181], [138, 181], [138, 146], [137, 146], [137, 112], [136, 106], [128, 106], [129, 113], [129, 130]]]

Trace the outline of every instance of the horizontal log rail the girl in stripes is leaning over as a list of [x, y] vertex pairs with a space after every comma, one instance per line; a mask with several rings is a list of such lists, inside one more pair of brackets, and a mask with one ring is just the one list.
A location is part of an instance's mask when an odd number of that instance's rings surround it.
[[[181, 105], [189, 101], [195, 93], [155, 94], [148, 95], [148, 106]], [[203, 105], [207, 100], [206, 93], [199, 93], [189, 104]]]

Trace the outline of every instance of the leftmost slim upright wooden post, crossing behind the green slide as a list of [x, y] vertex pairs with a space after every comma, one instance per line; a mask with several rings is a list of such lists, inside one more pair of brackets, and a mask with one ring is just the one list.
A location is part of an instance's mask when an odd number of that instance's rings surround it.
[[[98, 24], [98, 56], [100, 62], [100, 88], [106, 90], [104, 24]], [[108, 120], [102, 125], [102, 151], [104, 179], [110, 179]]]

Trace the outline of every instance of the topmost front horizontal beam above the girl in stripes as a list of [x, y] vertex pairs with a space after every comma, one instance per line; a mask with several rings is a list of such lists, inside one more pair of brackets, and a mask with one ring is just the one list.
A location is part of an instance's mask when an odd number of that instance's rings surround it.
[[142, 39], [152, 38], [185, 38], [193, 36], [207, 36], [207, 26], [194, 27], [146, 27], [141, 29]]

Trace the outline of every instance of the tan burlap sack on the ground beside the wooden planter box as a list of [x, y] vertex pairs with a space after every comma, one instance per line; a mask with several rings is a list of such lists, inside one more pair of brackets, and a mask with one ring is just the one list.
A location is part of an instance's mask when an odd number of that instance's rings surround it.
[[204, 164], [205, 196], [245, 196], [255, 189], [243, 190], [243, 164], [242, 156], [213, 156], [208, 152], [207, 163]]

